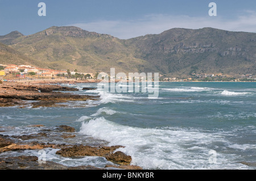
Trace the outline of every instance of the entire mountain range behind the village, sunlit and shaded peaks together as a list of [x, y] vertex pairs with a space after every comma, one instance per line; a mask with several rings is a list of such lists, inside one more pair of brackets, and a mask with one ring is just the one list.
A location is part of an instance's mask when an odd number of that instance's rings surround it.
[[77, 27], [51, 27], [28, 36], [12, 32], [0, 36], [0, 41], [55, 69], [109, 73], [115, 68], [116, 73], [159, 72], [172, 77], [256, 74], [256, 33], [173, 28], [121, 40]]

